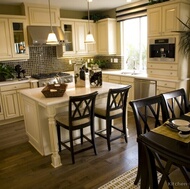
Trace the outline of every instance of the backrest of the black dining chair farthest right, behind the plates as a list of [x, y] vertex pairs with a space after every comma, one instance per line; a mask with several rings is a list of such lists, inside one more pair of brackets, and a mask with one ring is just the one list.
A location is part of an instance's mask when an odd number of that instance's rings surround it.
[[167, 107], [168, 118], [179, 118], [189, 112], [189, 103], [183, 88], [161, 94]]

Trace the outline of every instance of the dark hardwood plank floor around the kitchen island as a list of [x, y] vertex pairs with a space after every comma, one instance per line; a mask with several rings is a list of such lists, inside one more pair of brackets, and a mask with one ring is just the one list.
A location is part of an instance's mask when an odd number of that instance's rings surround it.
[[[119, 121], [118, 121], [119, 124]], [[128, 143], [119, 139], [107, 150], [106, 140], [97, 138], [93, 150], [77, 154], [61, 152], [62, 166], [53, 168], [50, 156], [41, 156], [28, 142], [24, 122], [0, 126], [1, 189], [94, 189], [137, 166], [134, 118], [128, 114]]]

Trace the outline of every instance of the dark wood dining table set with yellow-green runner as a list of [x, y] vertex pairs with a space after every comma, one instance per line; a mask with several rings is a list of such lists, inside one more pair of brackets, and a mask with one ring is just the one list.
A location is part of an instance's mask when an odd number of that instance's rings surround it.
[[[190, 122], [190, 112], [176, 119]], [[140, 173], [141, 189], [149, 188], [150, 183], [155, 184], [157, 182], [155, 179], [158, 179], [157, 177], [151, 177], [152, 180], [149, 180], [150, 169], [148, 169], [148, 166], [150, 166], [151, 161], [154, 161], [154, 158], [150, 157], [150, 154], [148, 155], [146, 151], [147, 146], [158, 150], [161, 154], [164, 154], [164, 157], [169, 157], [170, 160], [168, 161], [172, 162], [173, 165], [185, 167], [186, 170], [190, 171], [190, 135], [187, 135], [185, 138], [179, 136], [179, 131], [170, 127], [169, 123], [171, 123], [171, 120], [167, 120], [161, 126], [158, 126], [137, 138], [137, 142], [144, 146], [144, 150], [141, 152], [141, 158], [143, 159]], [[157, 170], [154, 171], [157, 175]], [[190, 187], [190, 183], [187, 184]]]

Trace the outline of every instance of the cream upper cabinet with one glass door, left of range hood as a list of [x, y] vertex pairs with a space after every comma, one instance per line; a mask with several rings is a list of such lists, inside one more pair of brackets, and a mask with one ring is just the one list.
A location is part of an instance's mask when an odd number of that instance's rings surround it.
[[0, 59], [29, 59], [26, 18], [0, 16]]

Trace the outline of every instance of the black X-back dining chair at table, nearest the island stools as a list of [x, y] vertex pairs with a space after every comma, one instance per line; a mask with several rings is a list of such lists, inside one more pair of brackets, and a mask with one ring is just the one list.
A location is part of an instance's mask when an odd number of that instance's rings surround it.
[[[151, 129], [160, 126], [167, 120], [166, 107], [161, 95], [137, 99], [129, 102], [135, 118], [137, 138]], [[138, 171], [134, 184], [141, 178], [142, 147], [138, 144]]]

